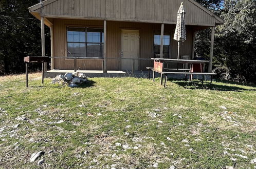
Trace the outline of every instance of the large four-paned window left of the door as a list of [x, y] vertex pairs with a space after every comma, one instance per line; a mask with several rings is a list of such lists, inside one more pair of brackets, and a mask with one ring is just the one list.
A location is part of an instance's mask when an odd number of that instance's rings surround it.
[[103, 57], [103, 43], [103, 29], [67, 28], [69, 57]]

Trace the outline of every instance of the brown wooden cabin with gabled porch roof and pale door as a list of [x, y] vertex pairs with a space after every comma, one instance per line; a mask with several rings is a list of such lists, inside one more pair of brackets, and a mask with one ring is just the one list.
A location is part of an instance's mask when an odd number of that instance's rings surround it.
[[51, 70], [106, 72], [145, 70], [152, 57], [177, 58], [181, 2], [187, 40], [179, 58], [192, 59], [196, 31], [212, 28], [212, 59], [214, 27], [224, 21], [194, 0], [46, 0], [28, 9], [41, 20], [43, 55], [44, 25], [51, 30]]

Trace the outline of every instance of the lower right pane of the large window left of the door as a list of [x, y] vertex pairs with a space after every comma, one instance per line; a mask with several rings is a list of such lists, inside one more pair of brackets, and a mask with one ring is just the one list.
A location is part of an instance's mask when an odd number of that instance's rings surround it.
[[103, 44], [87, 44], [87, 57], [103, 57]]

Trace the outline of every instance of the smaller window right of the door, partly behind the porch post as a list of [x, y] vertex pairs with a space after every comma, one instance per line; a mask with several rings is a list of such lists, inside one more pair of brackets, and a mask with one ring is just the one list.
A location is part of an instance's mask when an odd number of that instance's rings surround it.
[[[161, 33], [154, 33], [154, 57], [160, 57]], [[163, 33], [163, 58], [169, 58], [170, 55], [170, 33]]]

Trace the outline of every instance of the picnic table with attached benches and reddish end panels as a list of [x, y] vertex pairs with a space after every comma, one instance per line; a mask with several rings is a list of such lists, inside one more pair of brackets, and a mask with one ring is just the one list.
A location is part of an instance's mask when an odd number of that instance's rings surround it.
[[[160, 84], [162, 85], [163, 83], [163, 76], [164, 77], [164, 88], [166, 87], [166, 81], [167, 77], [170, 74], [184, 74], [184, 75], [190, 75], [190, 79], [192, 78], [192, 75], [203, 75], [202, 78], [202, 85], [204, 85], [204, 76], [209, 75], [211, 76], [211, 82], [212, 83], [212, 78], [216, 73], [211, 73], [211, 72], [204, 72], [204, 66], [205, 64], [209, 64], [209, 60], [185, 60], [185, 59], [169, 59], [169, 58], [151, 58], [154, 60], [154, 67], [150, 68], [147, 67], [149, 70], [149, 78], [150, 78], [150, 71], [153, 71], [153, 81], [155, 81], [155, 73], [161, 74], [160, 77]], [[190, 64], [190, 69], [179, 69], [178, 67], [176, 69], [168, 69], [164, 68], [165, 64], [168, 64], [169, 62], [174, 62], [177, 64]], [[199, 64], [200, 69], [199, 70], [194, 70], [193, 65]], [[181, 71], [181, 72], [180, 72]]]

